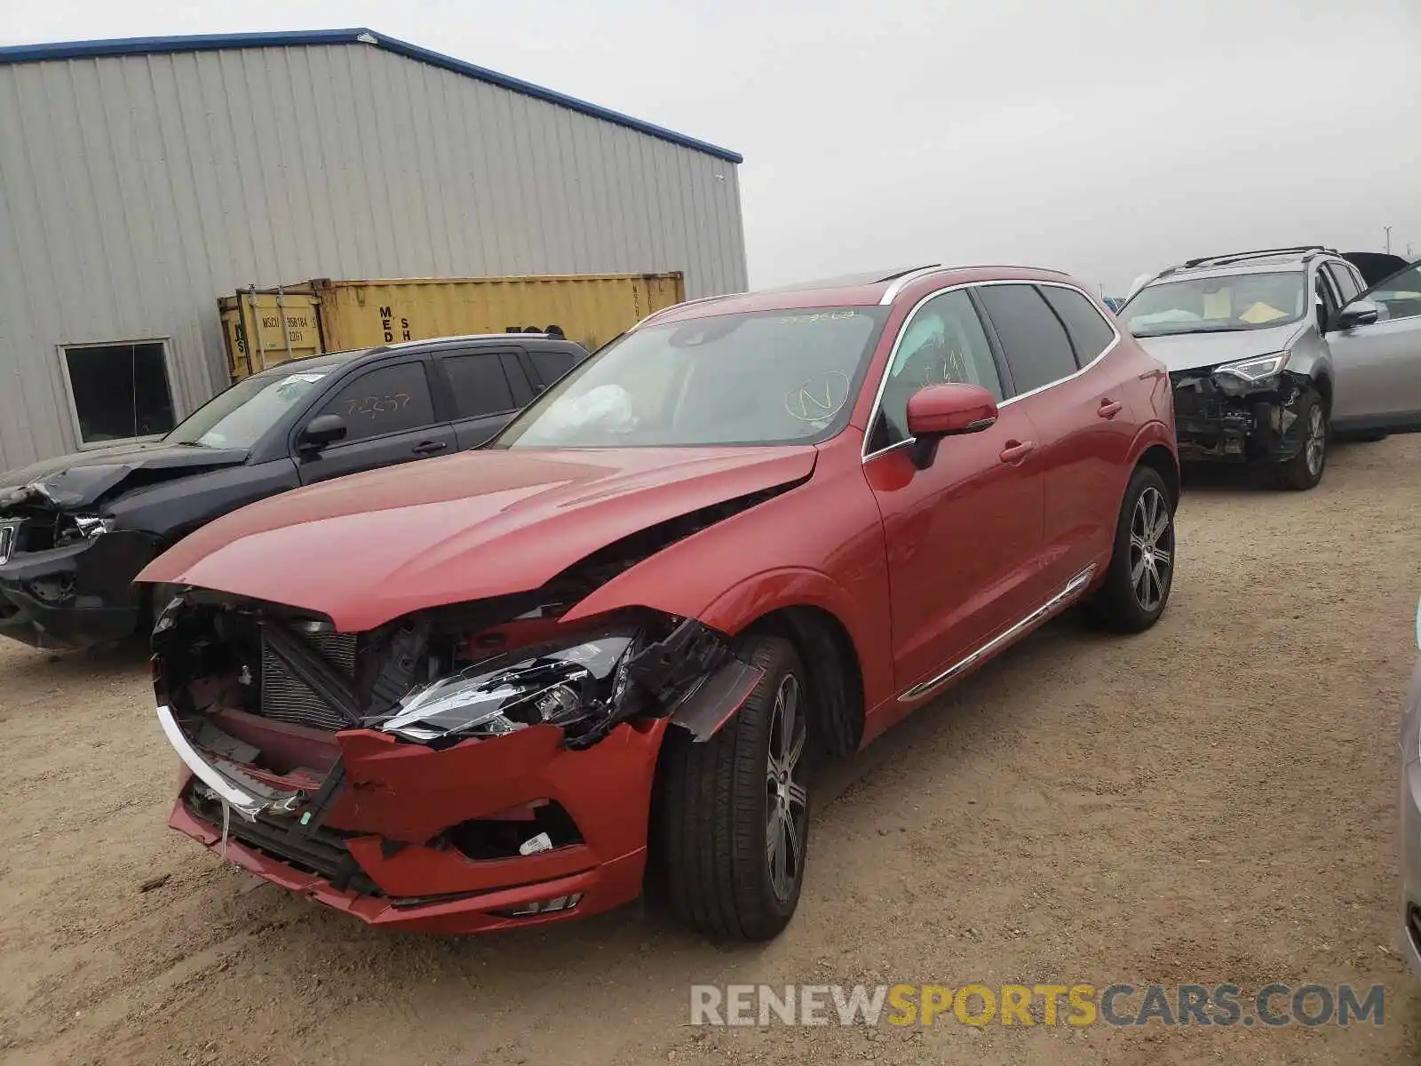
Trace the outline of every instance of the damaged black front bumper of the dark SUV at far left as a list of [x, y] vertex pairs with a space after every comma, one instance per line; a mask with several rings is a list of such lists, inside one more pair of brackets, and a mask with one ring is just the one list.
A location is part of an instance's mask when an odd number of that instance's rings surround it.
[[152, 560], [153, 537], [108, 532], [38, 551], [16, 550], [0, 566], [0, 635], [41, 648], [122, 640], [144, 617], [132, 581]]

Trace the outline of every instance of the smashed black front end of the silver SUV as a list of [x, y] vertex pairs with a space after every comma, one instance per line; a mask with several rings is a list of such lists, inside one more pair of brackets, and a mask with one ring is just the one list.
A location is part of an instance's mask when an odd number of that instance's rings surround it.
[[1175, 436], [1187, 462], [1287, 462], [1306, 446], [1299, 421], [1310, 388], [1302, 374], [1283, 371], [1259, 387], [1215, 375], [1215, 368], [1175, 371]]

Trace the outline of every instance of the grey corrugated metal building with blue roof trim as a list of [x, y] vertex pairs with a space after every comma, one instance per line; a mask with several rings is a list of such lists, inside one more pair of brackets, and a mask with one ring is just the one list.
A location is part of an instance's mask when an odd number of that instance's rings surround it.
[[739, 162], [369, 30], [0, 48], [0, 470], [213, 395], [242, 286], [743, 290]]

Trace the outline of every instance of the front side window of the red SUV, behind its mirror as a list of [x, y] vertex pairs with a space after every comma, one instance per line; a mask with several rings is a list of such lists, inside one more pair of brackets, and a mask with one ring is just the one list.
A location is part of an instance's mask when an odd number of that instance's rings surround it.
[[926, 385], [980, 385], [1002, 402], [1002, 378], [965, 289], [934, 297], [908, 320], [884, 379], [870, 452], [908, 439], [908, 398]]

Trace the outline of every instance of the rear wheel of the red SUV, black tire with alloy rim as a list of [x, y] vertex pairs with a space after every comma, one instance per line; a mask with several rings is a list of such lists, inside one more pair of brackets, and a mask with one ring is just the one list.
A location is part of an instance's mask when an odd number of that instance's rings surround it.
[[1117, 632], [1160, 621], [1174, 587], [1174, 503], [1160, 472], [1137, 466], [1115, 520], [1115, 549], [1091, 614]]

